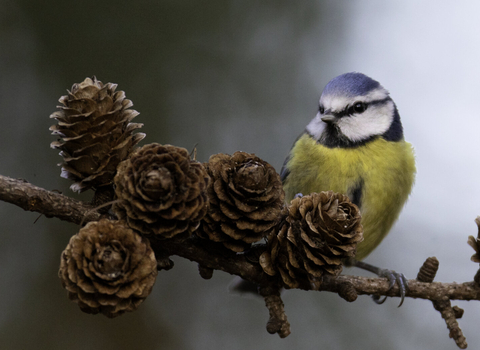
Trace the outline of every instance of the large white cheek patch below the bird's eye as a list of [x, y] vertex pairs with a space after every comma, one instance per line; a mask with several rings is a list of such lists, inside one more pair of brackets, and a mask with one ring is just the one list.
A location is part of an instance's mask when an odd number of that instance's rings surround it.
[[340, 118], [337, 125], [350, 140], [362, 141], [385, 133], [392, 124], [393, 114], [393, 102], [388, 101], [385, 104], [369, 106], [362, 114]]

